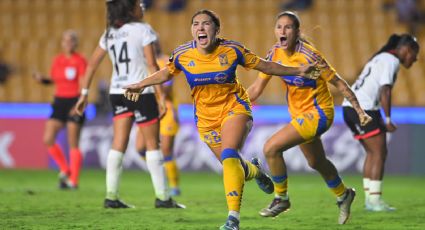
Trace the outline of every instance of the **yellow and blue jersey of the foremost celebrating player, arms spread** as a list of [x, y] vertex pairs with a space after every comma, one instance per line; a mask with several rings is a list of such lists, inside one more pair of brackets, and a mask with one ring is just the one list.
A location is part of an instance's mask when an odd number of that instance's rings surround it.
[[236, 68], [252, 69], [260, 58], [238, 42], [222, 38], [218, 42], [211, 54], [204, 55], [190, 41], [175, 49], [168, 63], [171, 74], [185, 74], [201, 129], [219, 127], [232, 114], [251, 116], [251, 102], [236, 77]]

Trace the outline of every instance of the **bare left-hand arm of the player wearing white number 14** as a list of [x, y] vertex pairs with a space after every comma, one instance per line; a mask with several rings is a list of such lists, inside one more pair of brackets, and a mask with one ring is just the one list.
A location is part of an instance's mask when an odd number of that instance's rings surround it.
[[88, 89], [90, 88], [90, 84], [93, 80], [94, 73], [96, 72], [97, 68], [100, 65], [100, 62], [102, 62], [105, 55], [106, 55], [106, 50], [97, 46], [89, 60], [89, 64], [87, 66], [86, 73], [84, 74], [84, 79], [81, 86], [81, 95], [80, 95], [80, 98], [78, 99], [77, 104], [75, 105], [75, 111], [79, 115], [83, 114], [87, 106]]

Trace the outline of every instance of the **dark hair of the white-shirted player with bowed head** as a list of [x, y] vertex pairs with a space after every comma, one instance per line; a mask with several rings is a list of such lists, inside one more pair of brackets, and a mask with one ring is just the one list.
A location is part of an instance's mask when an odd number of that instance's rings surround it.
[[378, 52], [376, 52], [372, 56], [372, 58], [375, 57], [376, 55], [382, 53], [382, 52], [394, 51], [394, 50], [400, 48], [401, 46], [409, 46], [414, 51], [419, 52], [419, 43], [413, 35], [410, 35], [410, 34], [401, 34], [401, 35], [392, 34], [390, 36], [390, 38], [388, 39], [387, 43], [381, 49], [379, 49]]

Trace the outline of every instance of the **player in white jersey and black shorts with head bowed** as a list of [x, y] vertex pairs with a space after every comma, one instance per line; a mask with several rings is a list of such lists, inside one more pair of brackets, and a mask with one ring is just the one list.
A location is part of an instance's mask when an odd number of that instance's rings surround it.
[[[416, 61], [418, 53], [419, 44], [415, 37], [409, 34], [393, 34], [363, 68], [351, 89], [359, 99], [362, 108], [373, 118], [373, 122], [360, 126], [359, 118], [350, 102], [344, 100], [342, 104], [345, 123], [354, 133], [354, 138], [359, 140], [366, 150], [363, 187], [365, 208], [369, 211], [395, 210], [381, 199], [387, 157], [386, 132], [396, 130], [396, 126], [391, 121], [391, 89], [400, 64], [410, 68]], [[385, 122], [379, 111], [381, 107], [385, 113]]]

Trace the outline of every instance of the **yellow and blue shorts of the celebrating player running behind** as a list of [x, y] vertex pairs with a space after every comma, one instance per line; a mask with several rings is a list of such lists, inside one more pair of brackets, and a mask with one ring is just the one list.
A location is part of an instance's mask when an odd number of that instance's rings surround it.
[[307, 141], [313, 140], [326, 132], [332, 125], [334, 109], [313, 109], [293, 117], [292, 126]]

